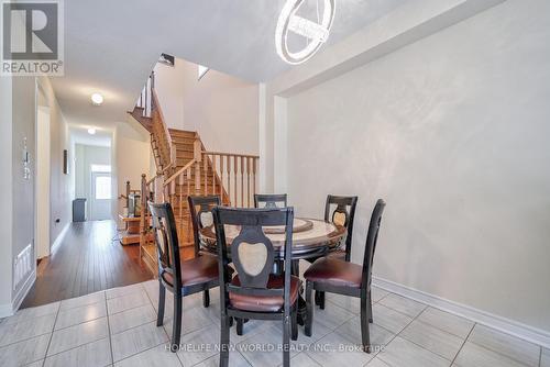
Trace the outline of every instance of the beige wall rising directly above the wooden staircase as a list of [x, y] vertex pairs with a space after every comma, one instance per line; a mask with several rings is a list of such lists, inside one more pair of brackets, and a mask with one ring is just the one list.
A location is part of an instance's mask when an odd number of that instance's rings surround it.
[[209, 151], [258, 152], [258, 86], [176, 58], [157, 64], [155, 88], [168, 127], [197, 131]]

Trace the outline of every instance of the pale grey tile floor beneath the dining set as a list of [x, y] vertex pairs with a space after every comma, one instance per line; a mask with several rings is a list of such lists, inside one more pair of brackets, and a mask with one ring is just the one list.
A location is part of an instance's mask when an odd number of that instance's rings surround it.
[[[172, 300], [165, 325], [156, 327], [155, 280], [19, 311], [0, 321], [0, 366], [218, 366], [219, 294], [202, 308], [201, 294], [184, 301], [183, 349], [165, 346], [172, 330]], [[375, 353], [359, 351], [359, 300], [327, 294], [316, 309], [314, 335], [300, 327], [293, 366], [367, 367], [550, 367], [550, 351], [410, 299], [373, 289]], [[265, 351], [282, 340], [279, 323], [251, 321], [234, 329], [231, 366], [278, 366], [282, 354]]]

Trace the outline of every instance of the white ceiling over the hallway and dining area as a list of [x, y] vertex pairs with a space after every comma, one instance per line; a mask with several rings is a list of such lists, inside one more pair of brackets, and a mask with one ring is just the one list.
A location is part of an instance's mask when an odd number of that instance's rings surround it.
[[[328, 44], [409, 1], [416, 0], [337, 0]], [[72, 124], [95, 126], [125, 121], [161, 53], [250, 81], [272, 79], [290, 67], [274, 44], [284, 2], [65, 1], [65, 76], [53, 78], [64, 115]], [[301, 15], [314, 19], [316, 2], [306, 2]], [[91, 105], [95, 91], [105, 96], [103, 105]]]

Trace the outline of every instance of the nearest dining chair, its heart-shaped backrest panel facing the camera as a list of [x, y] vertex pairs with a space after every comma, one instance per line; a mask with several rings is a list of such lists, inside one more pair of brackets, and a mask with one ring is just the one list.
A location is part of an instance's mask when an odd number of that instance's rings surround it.
[[[231, 319], [252, 319], [283, 322], [283, 366], [288, 367], [289, 338], [298, 337], [297, 300], [300, 288], [300, 279], [292, 275], [294, 210], [216, 207], [212, 213], [220, 275], [220, 366], [229, 365]], [[226, 225], [240, 227], [229, 248]], [[262, 226], [267, 225], [285, 226], [283, 249], [274, 247], [264, 234]], [[230, 262], [237, 270], [234, 277], [228, 271]], [[279, 274], [273, 273], [276, 262], [283, 263]]]

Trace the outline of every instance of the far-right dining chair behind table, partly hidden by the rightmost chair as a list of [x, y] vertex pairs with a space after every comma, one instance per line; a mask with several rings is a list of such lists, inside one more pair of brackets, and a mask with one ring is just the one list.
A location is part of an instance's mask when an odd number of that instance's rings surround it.
[[[343, 249], [337, 249], [328, 256], [337, 257], [338, 259], [351, 260], [351, 245], [353, 240], [353, 220], [355, 218], [355, 208], [358, 207], [358, 197], [343, 197], [328, 194], [324, 202], [324, 221], [337, 225], [342, 225], [348, 230]], [[314, 263], [317, 258], [309, 259]], [[315, 292], [315, 303], [321, 310], [324, 310], [324, 293], [322, 291]]]

